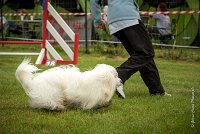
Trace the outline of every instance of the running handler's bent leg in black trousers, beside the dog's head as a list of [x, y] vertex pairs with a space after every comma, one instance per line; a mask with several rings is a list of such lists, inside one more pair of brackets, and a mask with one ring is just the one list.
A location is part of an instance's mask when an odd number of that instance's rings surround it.
[[130, 57], [117, 67], [123, 83], [129, 77], [148, 64], [154, 57], [153, 46], [143, 24], [125, 28], [114, 34], [123, 44]]

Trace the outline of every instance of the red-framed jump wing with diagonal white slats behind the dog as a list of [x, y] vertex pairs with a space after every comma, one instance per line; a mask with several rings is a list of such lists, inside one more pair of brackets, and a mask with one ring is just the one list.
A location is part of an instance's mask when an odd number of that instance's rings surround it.
[[[49, 21], [49, 15], [51, 15], [60, 25], [60, 27], [65, 31], [65, 33], [70, 37], [74, 42], [73, 51], [69, 45], [63, 40], [57, 30], [52, 26]], [[43, 17], [43, 42], [42, 50], [36, 60], [35, 64], [46, 64], [46, 65], [55, 65], [55, 64], [77, 64], [78, 62], [78, 45], [79, 45], [79, 34], [74, 33], [72, 29], [67, 25], [63, 18], [57, 13], [57, 11], [50, 4], [49, 0], [45, 1], [44, 7], [44, 17]], [[61, 46], [64, 52], [68, 55], [70, 61], [65, 61], [63, 58], [56, 52], [54, 47], [48, 41], [48, 34], [51, 34], [56, 42]], [[51, 60], [50, 54], [54, 59]]]

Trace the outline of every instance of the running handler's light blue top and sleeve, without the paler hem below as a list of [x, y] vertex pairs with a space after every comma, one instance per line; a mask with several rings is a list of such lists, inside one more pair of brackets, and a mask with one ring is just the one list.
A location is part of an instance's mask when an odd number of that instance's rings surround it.
[[[99, 0], [90, 0], [91, 13], [96, 23], [101, 21]], [[140, 19], [139, 7], [135, 0], [108, 0], [108, 24]]]

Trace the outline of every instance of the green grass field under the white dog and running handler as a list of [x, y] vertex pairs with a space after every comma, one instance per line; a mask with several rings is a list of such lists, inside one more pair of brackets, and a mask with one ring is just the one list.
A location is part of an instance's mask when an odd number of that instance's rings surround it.
[[[167, 50], [156, 51], [162, 57]], [[198, 53], [199, 54], [199, 53]], [[35, 61], [36, 57], [32, 57]], [[78, 67], [114, 67], [127, 57], [81, 53]], [[15, 70], [24, 56], [0, 56], [0, 133], [199, 134], [200, 62], [156, 58], [162, 83], [172, 97], [149, 96], [139, 73], [125, 84], [126, 99], [116, 95], [110, 107], [51, 112], [32, 109]]]

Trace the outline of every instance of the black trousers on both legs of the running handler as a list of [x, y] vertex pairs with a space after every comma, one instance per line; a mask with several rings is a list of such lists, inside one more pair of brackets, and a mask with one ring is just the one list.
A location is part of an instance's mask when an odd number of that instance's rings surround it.
[[160, 77], [153, 61], [154, 50], [150, 37], [142, 23], [128, 27], [114, 34], [123, 44], [130, 58], [117, 67], [119, 78], [123, 83], [135, 72], [141, 77], [151, 94], [163, 93]]

